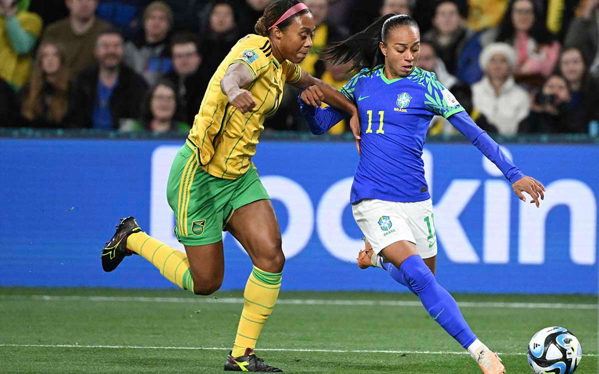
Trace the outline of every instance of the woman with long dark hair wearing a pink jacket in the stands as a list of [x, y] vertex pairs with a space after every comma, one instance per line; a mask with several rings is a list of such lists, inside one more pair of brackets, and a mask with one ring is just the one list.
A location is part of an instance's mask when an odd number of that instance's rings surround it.
[[516, 50], [517, 80], [534, 84], [535, 76], [549, 77], [559, 56], [559, 42], [544, 25], [543, 10], [533, 0], [512, 0], [501, 20], [497, 41]]

